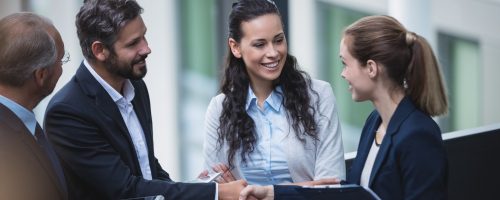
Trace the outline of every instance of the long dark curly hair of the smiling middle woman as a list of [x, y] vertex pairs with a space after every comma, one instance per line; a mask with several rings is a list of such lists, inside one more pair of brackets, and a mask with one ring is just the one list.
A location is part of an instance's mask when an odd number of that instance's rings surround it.
[[[229, 16], [229, 38], [236, 42], [241, 41], [243, 33], [241, 23], [265, 14], [276, 14], [281, 17], [276, 5], [270, 0], [241, 0], [233, 4]], [[242, 58], [236, 58], [230, 48], [226, 57], [225, 71], [221, 84], [221, 92], [225, 95], [222, 103], [222, 113], [219, 118], [218, 150], [222, 149], [225, 142], [228, 149], [229, 167], [234, 167], [234, 156], [241, 148], [243, 162], [255, 149], [257, 142], [255, 123], [247, 114], [245, 104], [248, 94], [250, 78]], [[281, 86], [284, 95], [283, 106], [286, 108], [287, 119], [291, 121], [297, 138], [305, 142], [309, 136], [316, 141], [317, 124], [314, 115], [317, 108], [311, 106], [308, 89], [311, 89], [310, 76], [301, 71], [295, 57], [287, 54], [285, 64], [280, 76], [274, 81], [274, 87]], [[313, 91], [314, 95], [317, 92]], [[317, 105], [317, 104], [316, 104]]]

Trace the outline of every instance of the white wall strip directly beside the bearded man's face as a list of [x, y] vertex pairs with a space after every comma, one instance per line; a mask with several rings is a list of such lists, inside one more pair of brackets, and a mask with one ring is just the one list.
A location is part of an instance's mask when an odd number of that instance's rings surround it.
[[146, 38], [151, 55], [148, 57], [148, 85], [153, 115], [155, 154], [173, 180], [180, 177], [178, 129], [178, 66], [177, 9], [175, 1], [139, 0], [148, 27]]

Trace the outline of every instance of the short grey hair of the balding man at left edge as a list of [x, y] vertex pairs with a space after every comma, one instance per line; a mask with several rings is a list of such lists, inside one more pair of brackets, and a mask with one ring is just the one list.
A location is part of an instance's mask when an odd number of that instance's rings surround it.
[[0, 83], [22, 86], [37, 69], [57, 61], [52, 22], [34, 13], [11, 14], [0, 20]]

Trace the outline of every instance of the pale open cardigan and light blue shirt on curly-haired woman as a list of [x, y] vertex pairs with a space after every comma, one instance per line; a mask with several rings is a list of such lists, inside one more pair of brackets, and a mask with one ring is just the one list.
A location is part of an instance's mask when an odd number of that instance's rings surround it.
[[[263, 109], [258, 109], [254, 97], [248, 95], [247, 112], [256, 124], [259, 140], [246, 164], [241, 160], [241, 149], [236, 151], [231, 169], [236, 179], [246, 179], [251, 184], [289, 183], [290, 177], [294, 183], [322, 178], [345, 179], [342, 132], [332, 87], [328, 82], [313, 79], [311, 89], [310, 106], [317, 111], [314, 120], [318, 125], [318, 140], [296, 137], [296, 132], [302, 130], [294, 130], [286, 120], [279, 88], [266, 99]], [[313, 95], [313, 91], [318, 95]], [[224, 99], [224, 94], [212, 98], [205, 114], [203, 156], [205, 169], [209, 171], [216, 164], [229, 163], [229, 146], [225, 142], [219, 148], [217, 133]]]

